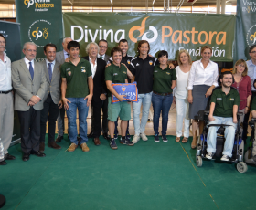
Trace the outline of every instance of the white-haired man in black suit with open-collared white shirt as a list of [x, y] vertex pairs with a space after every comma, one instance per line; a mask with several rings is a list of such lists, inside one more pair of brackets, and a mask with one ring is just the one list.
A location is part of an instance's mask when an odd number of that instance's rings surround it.
[[103, 106], [104, 101], [107, 99], [107, 89], [104, 82], [106, 62], [101, 58], [97, 58], [99, 50], [99, 46], [95, 42], [91, 42], [86, 47], [86, 52], [89, 56], [84, 58], [91, 64], [93, 79], [93, 97], [91, 100], [93, 121], [91, 130], [93, 133], [93, 141], [96, 146], [101, 144], [99, 139], [101, 135], [101, 109], [103, 109], [103, 112], [105, 113], [108, 111], [108, 107]]

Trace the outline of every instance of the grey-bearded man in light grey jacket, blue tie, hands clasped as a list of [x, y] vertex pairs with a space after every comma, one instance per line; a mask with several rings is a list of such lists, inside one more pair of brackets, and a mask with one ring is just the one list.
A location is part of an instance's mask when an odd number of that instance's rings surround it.
[[15, 110], [20, 121], [21, 149], [24, 152], [23, 161], [30, 154], [38, 157], [46, 155], [39, 151], [40, 110], [43, 109], [43, 99], [48, 83], [44, 68], [34, 61], [37, 46], [33, 42], [24, 44], [25, 58], [12, 63], [12, 81], [16, 90]]

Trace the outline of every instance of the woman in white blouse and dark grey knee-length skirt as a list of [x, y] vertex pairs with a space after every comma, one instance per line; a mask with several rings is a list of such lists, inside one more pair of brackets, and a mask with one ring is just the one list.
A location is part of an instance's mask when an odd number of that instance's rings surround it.
[[208, 105], [208, 97], [212, 94], [212, 89], [218, 86], [218, 65], [210, 60], [211, 55], [211, 47], [202, 47], [202, 58], [192, 64], [188, 77], [189, 118], [193, 119], [192, 149], [197, 147], [197, 128], [199, 127], [199, 134], [202, 134], [204, 128], [204, 110]]

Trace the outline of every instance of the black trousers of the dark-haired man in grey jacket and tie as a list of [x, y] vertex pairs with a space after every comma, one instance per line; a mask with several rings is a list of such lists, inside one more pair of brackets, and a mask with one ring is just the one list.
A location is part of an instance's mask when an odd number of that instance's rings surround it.
[[48, 94], [47, 100], [44, 102], [44, 109], [40, 114], [40, 142], [45, 142], [47, 121], [48, 121], [48, 142], [55, 141], [56, 121], [59, 115], [58, 104], [55, 104]]

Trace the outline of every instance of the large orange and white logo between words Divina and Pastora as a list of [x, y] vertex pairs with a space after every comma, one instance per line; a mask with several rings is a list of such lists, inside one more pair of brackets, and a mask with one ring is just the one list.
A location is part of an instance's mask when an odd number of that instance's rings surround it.
[[[149, 30], [152, 31], [151, 33], [154, 34], [153, 37], [148, 38], [147, 34], [149, 32], [144, 33], [145, 31], [145, 21], [149, 16], [145, 17], [144, 20], [142, 21], [142, 25], [141, 26], [133, 26], [130, 31], [129, 31], [129, 38], [131, 39], [132, 42], [136, 43], [137, 42], [137, 37], [142, 37], [142, 40], [146, 40], [149, 43], [155, 42], [156, 38], [158, 37], [158, 33], [157, 30], [154, 26], [149, 26]], [[137, 37], [133, 37], [133, 32], [134, 31], [139, 31], [140, 34]]]

